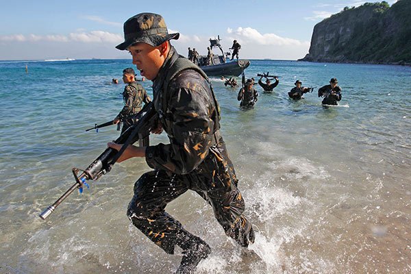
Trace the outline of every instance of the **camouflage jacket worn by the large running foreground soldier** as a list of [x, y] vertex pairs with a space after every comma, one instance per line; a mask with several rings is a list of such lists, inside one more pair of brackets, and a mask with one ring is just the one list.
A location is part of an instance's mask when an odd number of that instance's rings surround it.
[[177, 58], [182, 56], [171, 47], [153, 80], [154, 107], [170, 143], [147, 147], [146, 161], [153, 169], [186, 174], [199, 168], [216, 144], [219, 111], [210, 84], [199, 72], [186, 69], [166, 79]]

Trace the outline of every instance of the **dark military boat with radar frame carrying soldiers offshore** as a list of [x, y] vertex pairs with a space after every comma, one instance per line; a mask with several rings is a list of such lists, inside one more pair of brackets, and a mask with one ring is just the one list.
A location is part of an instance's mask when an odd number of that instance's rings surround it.
[[227, 62], [230, 53], [224, 53], [220, 45], [220, 36], [216, 39], [210, 39], [210, 48], [212, 49], [213, 47], [218, 47], [222, 53], [222, 55], [213, 55], [212, 60], [214, 64], [207, 65], [207, 56], [199, 56], [198, 65], [208, 76], [239, 76], [250, 65], [249, 60], [242, 59]]

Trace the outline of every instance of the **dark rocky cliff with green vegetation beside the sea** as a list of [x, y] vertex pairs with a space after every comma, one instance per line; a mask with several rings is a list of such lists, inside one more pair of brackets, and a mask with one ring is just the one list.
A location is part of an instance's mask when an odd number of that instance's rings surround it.
[[301, 60], [411, 64], [411, 0], [346, 7], [314, 26]]

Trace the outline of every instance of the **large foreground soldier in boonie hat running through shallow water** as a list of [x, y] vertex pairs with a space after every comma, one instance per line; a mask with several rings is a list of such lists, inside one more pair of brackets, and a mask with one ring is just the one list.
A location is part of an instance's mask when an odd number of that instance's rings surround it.
[[[166, 253], [173, 254], [176, 245], [181, 247], [184, 256], [177, 273], [193, 273], [211, 249], [164, 210], [187, 190], [210, 203], [225, 234], [240, 246], [248, 247], [254, 240], [220, 134], [219, 106], [207, 75], [171, 46], [170, 40], [179, 34], [168, 33], [162, 16], [137, 14], [124, 23], [124, 32], [125, 42], [116, 48], [129, 51], [140, 74], [153, 81], [153, 107], [160, 125], [152, 132], [164, 129], [170, 140], [150, 147], [129, 145], [119, 158], [122, 162], [142, 157], [153, 168], [134, 185], [127, 216]], [[108, 146], [121, 149], [114, 143]]]

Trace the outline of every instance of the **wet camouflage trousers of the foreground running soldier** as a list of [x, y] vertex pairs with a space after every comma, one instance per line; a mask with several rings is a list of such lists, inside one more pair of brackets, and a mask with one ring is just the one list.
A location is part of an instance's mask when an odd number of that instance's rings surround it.
[[127, 216], [145, 236], [166, 253], [173, 254], [175, 245], [182, 246], [178, 235], [188, 232], [164, 208], [187, 190], [196, 191], [208, 201], [227, 236], [242, 247], [254, 241], [251, 222], [242, 214], [245, 204], [237, 188], [232, 164], [221, 158], [221, 151], [216, 147], [210, 149], [195, 171], [186, 175], [167, 171], [143, 174], [134, 185], [134, 197], [129, 203]]

